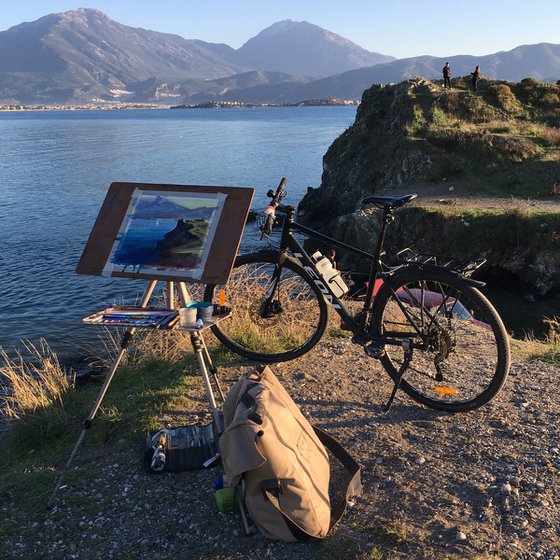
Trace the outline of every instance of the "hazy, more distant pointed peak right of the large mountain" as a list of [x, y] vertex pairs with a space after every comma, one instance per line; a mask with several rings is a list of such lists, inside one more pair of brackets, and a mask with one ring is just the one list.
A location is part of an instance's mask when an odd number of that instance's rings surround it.
[[232, 61], [249, 68], [324, 77], [395, 60], [307, 21], [280, 21], [249, 39]]

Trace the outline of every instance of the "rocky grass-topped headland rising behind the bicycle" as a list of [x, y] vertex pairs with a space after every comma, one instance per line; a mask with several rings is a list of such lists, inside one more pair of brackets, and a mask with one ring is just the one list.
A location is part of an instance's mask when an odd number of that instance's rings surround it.
[[[369, 194], [417, 192], [398, 213], [389, 251], [485, 256], [487, 271], [538, 294], [560, 290], [560, 87], [468, 80], [453, 89], [422, 78], [374, 85], [356, 121], [329, 148], [320, 188], [300, 220], [372, 246]], [[344, 263], [344, 256], [342, 256]]]

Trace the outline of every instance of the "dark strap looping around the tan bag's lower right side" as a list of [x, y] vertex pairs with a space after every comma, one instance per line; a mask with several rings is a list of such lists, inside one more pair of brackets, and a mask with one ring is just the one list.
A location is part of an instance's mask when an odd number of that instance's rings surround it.
[[[346, 488], [344, 489], [344, 501], [341, 501], [335, 508], [331, 509], [331, 522], [329, 525], [330, 532], [344, 515], [344, 512], [348, 508], [350, 498], [352, 496], [357, 496], [362, 492], [362, 482], [360, 477], [361, 468], [348, 451], [346, 451], [346, 449], [344, 449], [344, 447], [342, 447], [342, 445], [340, 445], [340, 443], [338, 443], [338, 441], [336, 441], [332, 436], [315, 426], [313, 426], [313, 430], [321, 443], [341, 462], [342, 466], [349, 474], [349, 480], [346, 484]], [[287, 513], [282, 511], [279, 500], [280, 494], [282, 493], [282, 482], [280, 480], [264, 481], [262, 491], [268, 501], [282, 515], [288, 529], [290, 529], [290, 532], [298, 541], [319, 538], [315, 535], [310, 535], [298, 525], [297, 520], [292, 519]]]

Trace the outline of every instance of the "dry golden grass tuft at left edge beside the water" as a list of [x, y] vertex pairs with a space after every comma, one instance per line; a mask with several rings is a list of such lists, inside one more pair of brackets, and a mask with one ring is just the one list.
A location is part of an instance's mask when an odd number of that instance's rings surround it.
[[[29, 357], [24, 358], [24, 354]], [[0, 383], [5, 390], [3, 414], [19, 419], [52, 405], [63, 408], [64, 395], [73, 387], [73, 379], [44, 339], [38, 346], [23, 341], [16, 358], [1, 350], [0, 360]]]

